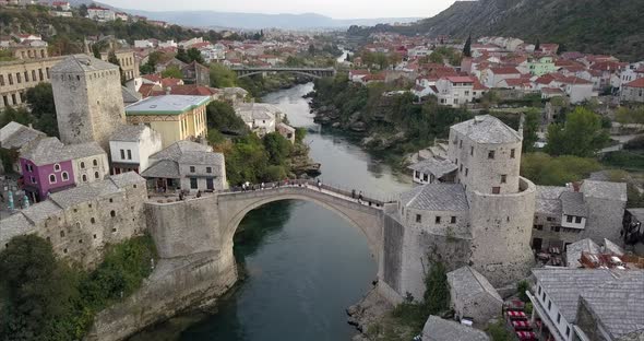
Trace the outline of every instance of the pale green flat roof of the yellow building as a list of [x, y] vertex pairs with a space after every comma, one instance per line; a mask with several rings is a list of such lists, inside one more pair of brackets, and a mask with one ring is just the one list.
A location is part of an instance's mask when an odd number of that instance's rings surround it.
[[208, 102], [210, 96], [154, 96], [127, 106], [126, 115], [180, 115]]

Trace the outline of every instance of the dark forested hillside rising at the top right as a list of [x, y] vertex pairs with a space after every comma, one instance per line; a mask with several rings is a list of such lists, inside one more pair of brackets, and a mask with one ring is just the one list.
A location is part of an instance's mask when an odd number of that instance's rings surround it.
[[479, 0], [457, 1], [412, 26], [353, 27], [349, 33], [513, 36], [563, 43], [568, 50], [644, 59], [644, 0]]

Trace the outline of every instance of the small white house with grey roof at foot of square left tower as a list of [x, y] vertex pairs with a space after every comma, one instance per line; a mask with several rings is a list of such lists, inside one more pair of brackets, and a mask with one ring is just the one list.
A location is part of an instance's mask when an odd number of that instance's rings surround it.
[[162, 150], [162, 137], [144, 125], [121, 126], [109, 138], [111, 172], [141, 173], [150, 165], [150, 155]]

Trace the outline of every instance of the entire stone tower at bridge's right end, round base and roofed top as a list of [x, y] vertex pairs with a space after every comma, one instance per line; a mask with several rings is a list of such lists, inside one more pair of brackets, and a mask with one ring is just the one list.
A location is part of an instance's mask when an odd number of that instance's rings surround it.
[[450, 129], [448, 155], [469, 202], [473, 267], [494, 285], [527, 274], [535, 185], [520, 176], [523, 136], [486, 115]]

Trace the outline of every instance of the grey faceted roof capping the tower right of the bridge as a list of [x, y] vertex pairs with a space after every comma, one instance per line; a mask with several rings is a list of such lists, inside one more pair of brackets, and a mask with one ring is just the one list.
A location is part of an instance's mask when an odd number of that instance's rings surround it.
[[523, 140], [516, 130], [490, 115], [476, 116], [452, 126], [452, 129], [478, 143], [515, 143]]

